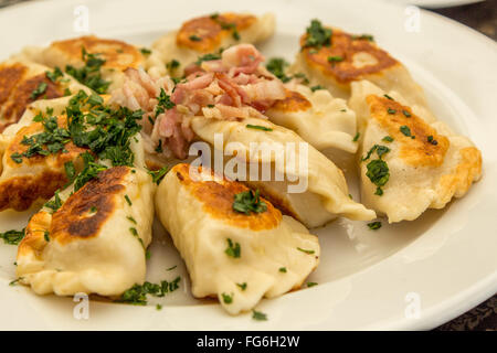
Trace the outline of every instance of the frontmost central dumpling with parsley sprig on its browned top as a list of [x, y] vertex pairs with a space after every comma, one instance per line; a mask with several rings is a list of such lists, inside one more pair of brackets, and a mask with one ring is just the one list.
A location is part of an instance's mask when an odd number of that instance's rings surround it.
[[[255, 211], [234, 210], [243, 194], [253, 197]], [[157, 190], [156, 207], [187, 264], [193, 296], [215, 296], [231, 314], [299, 288], [319, 263], [316, 236], [209, 169], [173, 167]]]

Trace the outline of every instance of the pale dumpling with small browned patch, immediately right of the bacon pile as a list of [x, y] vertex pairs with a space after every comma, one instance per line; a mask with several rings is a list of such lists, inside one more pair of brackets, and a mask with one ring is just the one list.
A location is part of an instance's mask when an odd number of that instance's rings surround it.
[[356, 114], [346, 101], [326, 89], [313, 92], [304, 85], [288, 87], [265, 115], [276, 125], [297, 132], [319, 151], [338, 149], [356, 153]]

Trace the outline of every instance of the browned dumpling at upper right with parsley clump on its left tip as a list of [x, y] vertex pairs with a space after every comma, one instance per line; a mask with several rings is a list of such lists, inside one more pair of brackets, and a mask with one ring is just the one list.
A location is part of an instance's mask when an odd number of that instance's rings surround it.
[[313, 20], [300, 38], [300, 47], [292, 72], [306, 74], [311, 85], [324, 86], [334, 97], [348, 99], [350, 84], [367, 79], [384, 90], [396, 90], [409, 105], [427, 109], [423, 89], [371, 35], [349, 34]]

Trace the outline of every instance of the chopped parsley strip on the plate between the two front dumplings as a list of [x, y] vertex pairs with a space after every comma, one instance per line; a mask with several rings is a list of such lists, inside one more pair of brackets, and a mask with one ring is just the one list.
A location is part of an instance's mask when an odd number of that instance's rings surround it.
[[146, 306], [147, 295], [154, 297], [165, 297], [167, 293], [173, 292], [179, 288], [181, 277], [177, 277], [172, 281], [162, 280], [160, 284], [144, 282], [144, 285], [135, 285], [126, 290], [123, 296], [116, 300], [135, 306]]

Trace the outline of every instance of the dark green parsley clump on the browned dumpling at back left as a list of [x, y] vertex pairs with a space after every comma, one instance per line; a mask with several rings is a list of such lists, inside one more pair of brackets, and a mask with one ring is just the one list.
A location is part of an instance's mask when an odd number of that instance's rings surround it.
[[98, 57], [99, 54], [88, 54], [84, 46], [81, 52], [82, 60], [85, 65], [81, 68], [75, 68], [72, 65], [67, 65], [65, 66], [65, 72], [96, 93], [105, 94], [110, 85], [110, 82], [102, 78], [101, 68], [106, 61]]

